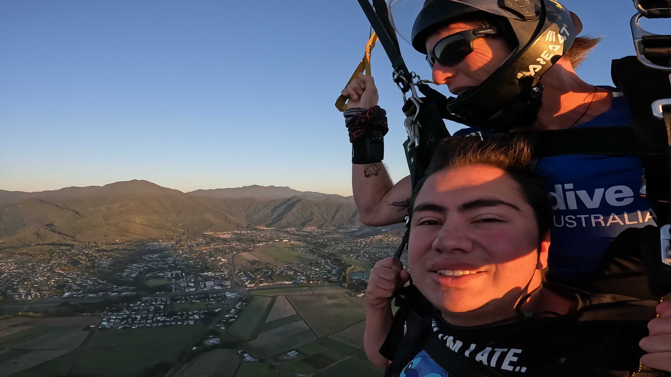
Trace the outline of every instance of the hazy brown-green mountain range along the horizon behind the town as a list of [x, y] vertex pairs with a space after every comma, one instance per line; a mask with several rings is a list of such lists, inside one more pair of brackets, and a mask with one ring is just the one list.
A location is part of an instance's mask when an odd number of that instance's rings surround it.
[[254, 226], [360, 225], [352, 197], [289, 187], [255, 185], [183, 193], [146, 180], [130, 180], [38, 193], [0, 190], [0, 248], [130, 241]]

